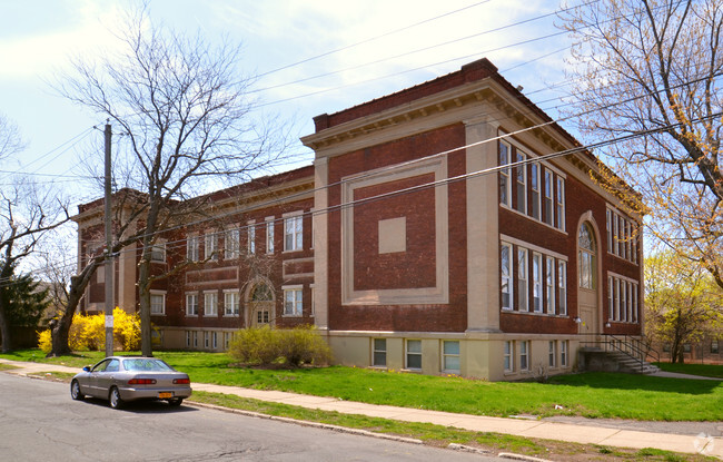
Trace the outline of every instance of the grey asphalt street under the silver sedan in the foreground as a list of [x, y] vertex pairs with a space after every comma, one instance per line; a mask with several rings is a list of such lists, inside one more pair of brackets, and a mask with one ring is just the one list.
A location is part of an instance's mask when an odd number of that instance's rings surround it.
[[72, 401], [63, 383], [0, 374], [0, 461], [493, 461], [189, 405]]

